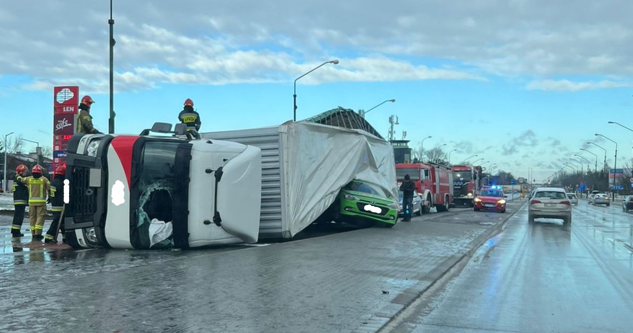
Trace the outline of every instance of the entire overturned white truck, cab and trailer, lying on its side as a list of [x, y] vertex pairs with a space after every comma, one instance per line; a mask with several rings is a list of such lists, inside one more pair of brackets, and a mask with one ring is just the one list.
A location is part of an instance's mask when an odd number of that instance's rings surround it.
[[[168, 128], [167, 128], [168, 127]], [[358, 114], [185, 133], [75, 135], [66, 238], [74, 248], [193, 248], [292, 238], [352, 179], [397, 195], [393, 150]]]

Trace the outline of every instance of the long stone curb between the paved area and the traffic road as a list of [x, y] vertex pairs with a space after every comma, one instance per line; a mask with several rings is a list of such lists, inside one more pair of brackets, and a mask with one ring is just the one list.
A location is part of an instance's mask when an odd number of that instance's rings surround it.
[[[392, 306], [393, 305], [400, 305], [399, 306], [399, 310], [396, 313], [394, 313], [393, 315], [386, 315], [386, 313], [384, 313], [382, 311], [378, 312], [375, 315], [376, 317], [386, 317], [384, 319], [387, 319], [387, 320], [382, 321], [382, 325], [380, 325], [380, 327], [378, 327], [378, 329], [373, 331], [373, 332], [383, 332], [385, 329], [387, 329], [389, 324], [394, 322], [394, 320], [398, 319], [398, 317], [407, 308], [409, 308], [409, 306], [411, 306], [418, 299], [422, 298], [422, 296], [424, 296], [424, 294], [427, 291], [429, 291], [429, 289], [431, 289], [434, 286], [436, 286], [437, 282], [441, 281], [443, 278], [445, 278], [446, 275], [448, 275], [449, 272], [451, 272], [451, 270], [453, 270], [455, 267], [457, 267], [458, 265], [460, 265], [462, 263], [464, 265], [466, 263], [468, 263], [468, 260], [470, 260], [472, 255], [477, 251], [477, 249], [480, 248], [480, 246], [484, 245], [484, 243], [486, 243], [486, 241], [488, 239], [490, 239], [490, 238], [496, 236], [497, 234], [501, 233], [501, 231], [503, 231], [503, 229], [506, 228], [506, 224], [508, 224], [508, 221], [510, 221], [510, 219], [515, 214], [517, 214], [519, 210], [521, 210], [523, 208], [523, 205], [525, 205], [525, 203], [527, 203], [527, 200], [525, 200], [525, 202], [521, 203], [518, 206], [517, 210], [515, 210], [510, 215], [508, 215], [501, 223], [499, 223], [498, 225], [496, 225], [494, 227], [491, 227], [490, 229], [487, 229], [487, 231], [485, 231], [483, 234], [481, 234], [477, 238], [475, 238], [472, 241], [470, 241], [470, 243], [468, 243], [468, 245], [466, 246], [466, 248], [468, 248], [468, 250], [465, 253], [463, 253], [461, 255], [460, 254], [452, 255], [448, 259], [444, 260], [444, 262], [442, 262], [439, 265], [437, 265], [437, 267], [435, 269], [431, 270], [429, 272], [429, 274], [424, 275], [424, 277], [422, 277], [422, 279], [420, 279], [420, 282], [418, 282], [417, 284], [415, 284], [415, 285], [411, 286], [410, 288], [406, 289], [402, 293], [398, 294], [398, 296], [396, 296], [396, 298], [394, 298], [391, 301], [391, 305]], [[458, 272], [460, 270], [458, 270]], [[361, 332], [367, 332], [365, 330], [360, 330], [360, 331]]]

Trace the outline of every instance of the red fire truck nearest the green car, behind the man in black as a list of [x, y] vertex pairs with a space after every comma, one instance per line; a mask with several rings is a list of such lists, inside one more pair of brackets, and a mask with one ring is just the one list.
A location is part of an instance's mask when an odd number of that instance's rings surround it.
[[434, 163], [397, 163], [398, 186], [408, 174], [415, 181], [415, 188], [422, 198], [422, 212], [435, 206], [438, 212], [446, 212], [453, 205], [453, 171], [447, 166]]

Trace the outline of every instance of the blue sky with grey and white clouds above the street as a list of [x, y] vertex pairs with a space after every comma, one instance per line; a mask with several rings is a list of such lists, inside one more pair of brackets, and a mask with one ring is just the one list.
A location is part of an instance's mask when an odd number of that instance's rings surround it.
[[[552, 1], [114, 0], [117, 133], [175, 123], [191, 98], [203, 131], [270, 126], [337, 106], [385, 136], [446, 143], [499, 169], [555, 173], [594, 140], [630, 161], [633, 3], [569, 8]], [[627, 10], [628, 9], [628, 10]], [[28, 19], [22, 13], [28, 12]], [[0, 134], [51, 145], [55, 85], [91, 94], [108, 129], [108, 2], [13, 2], [0, 9]], [[16, 136], [14, 135], [14, 136]], [[34, 144], [25, 144], [32, 150]], [[603, 159], [603, 152], [588, 146]], [[629, 162], [630, 163], [630, 162]], [[600, 164], [600, 163], [599, 163]]]

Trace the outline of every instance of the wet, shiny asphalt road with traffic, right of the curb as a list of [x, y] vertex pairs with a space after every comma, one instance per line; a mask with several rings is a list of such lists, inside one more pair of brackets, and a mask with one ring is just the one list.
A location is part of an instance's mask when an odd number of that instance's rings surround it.
[[572, 219], [530, 225], [523, 206], [384, 332], [633, 332], [633, 214], [580, 200]]

